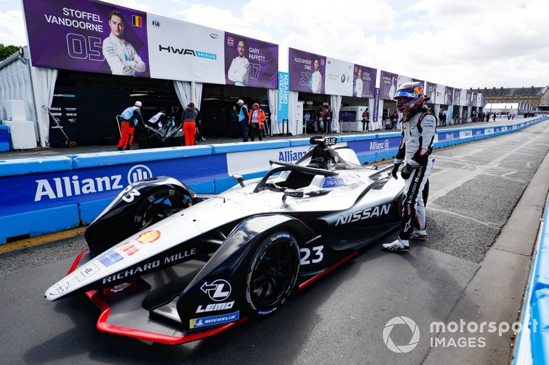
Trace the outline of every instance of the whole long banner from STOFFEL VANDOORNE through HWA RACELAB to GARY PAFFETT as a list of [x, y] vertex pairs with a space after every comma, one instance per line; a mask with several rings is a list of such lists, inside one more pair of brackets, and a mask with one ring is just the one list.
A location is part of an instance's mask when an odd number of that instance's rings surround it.
[[237, 85], [228, 73], [240, 58], [243, 86], [277, 85], [272, 43], [240, 37], [240, 55], [219, 29], [95, 0], [23, 0], [23, 12], [33, 66]]

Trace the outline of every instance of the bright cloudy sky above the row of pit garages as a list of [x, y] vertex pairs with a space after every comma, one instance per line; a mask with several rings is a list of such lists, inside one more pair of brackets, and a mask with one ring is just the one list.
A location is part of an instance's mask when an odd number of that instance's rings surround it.
[[[119, 0], [457, 88], [549, 85], [548, 0]], [[0, 0], [0, 43], [26, 45], [21, 1]]]

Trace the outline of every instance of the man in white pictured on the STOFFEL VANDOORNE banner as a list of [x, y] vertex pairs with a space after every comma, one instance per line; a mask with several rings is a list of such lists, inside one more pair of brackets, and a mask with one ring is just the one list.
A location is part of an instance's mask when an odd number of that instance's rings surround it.
[[118, 10], [108, 14], [110, 34], [103, 40], [103, 55], [113, 75], [135, 76], [145, 71], [145, 62], [135, 48], [122, 38], [124, 33], [124, 15]]

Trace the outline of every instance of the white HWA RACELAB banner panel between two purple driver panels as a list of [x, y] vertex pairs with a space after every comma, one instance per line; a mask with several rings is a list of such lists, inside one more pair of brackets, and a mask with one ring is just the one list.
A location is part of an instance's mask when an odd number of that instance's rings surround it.
[[151, 77], [225, 84], [224, 32], [149, 14]]

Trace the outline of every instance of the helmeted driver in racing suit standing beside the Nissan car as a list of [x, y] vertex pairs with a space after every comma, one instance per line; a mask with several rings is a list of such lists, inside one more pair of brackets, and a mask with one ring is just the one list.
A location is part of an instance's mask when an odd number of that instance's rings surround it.
[[383, 249], [399, 252], [408, 251], [410, 240], [427, 239], [423, 189], [434, 162], [429, 155], [436, 131], [436, 116], [423, 105], [429, 98], [425, 97], [421, 82], [402, 84], [394, 99], [397, 110], [404, 115], [401, 119], [402, 139], [391, 175], [398, 179], [399, 166], [404, 162], [400, 175], [406, 180], [406, 185], [399, 235], [394, 242], [383, 244]]

